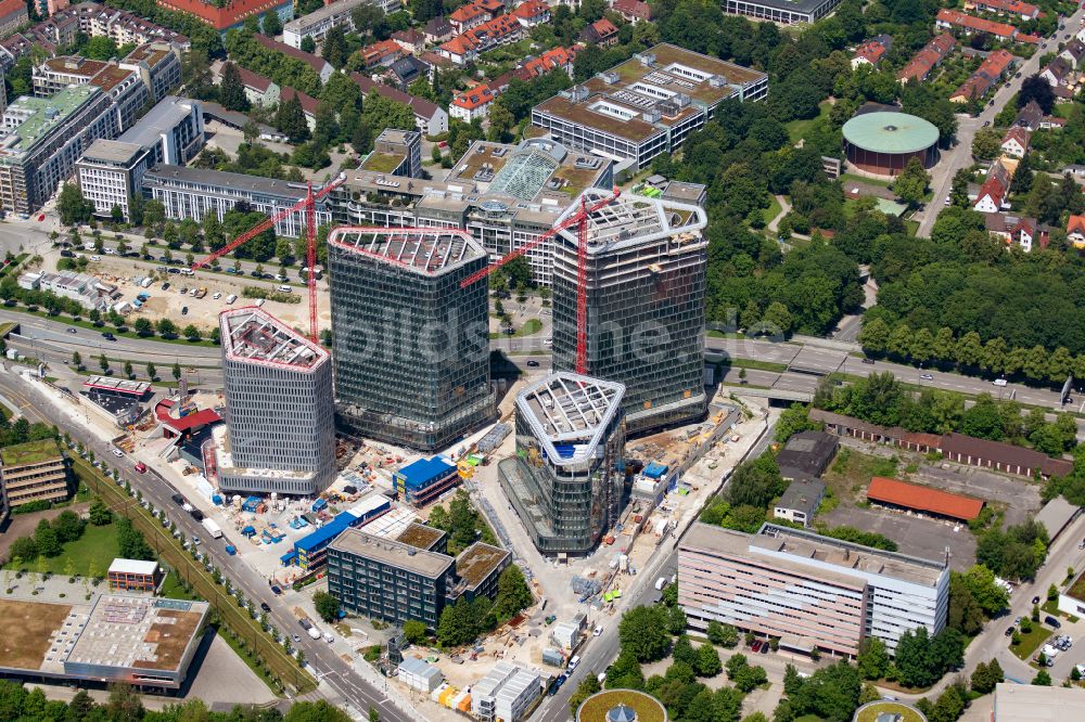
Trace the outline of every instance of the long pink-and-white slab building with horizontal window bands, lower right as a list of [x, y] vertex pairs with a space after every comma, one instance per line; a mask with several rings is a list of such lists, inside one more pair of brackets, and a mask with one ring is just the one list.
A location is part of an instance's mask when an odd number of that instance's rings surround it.
[[906, 631], [945, 627], [949, 569], [774, 524], [745, 534], [698, 523], [678, 546], [678, 603], [700, 630], [719, 621], [846, 656], [873, 636], [892, 652]]

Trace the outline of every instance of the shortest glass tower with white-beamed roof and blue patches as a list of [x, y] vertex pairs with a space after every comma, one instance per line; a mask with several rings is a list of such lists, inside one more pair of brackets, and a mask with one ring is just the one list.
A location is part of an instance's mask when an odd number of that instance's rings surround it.
[[587, 554], [618, 517], [625, 386], [557, 373], [516, 397], [516, 456], [506, 495], [544, 554]]

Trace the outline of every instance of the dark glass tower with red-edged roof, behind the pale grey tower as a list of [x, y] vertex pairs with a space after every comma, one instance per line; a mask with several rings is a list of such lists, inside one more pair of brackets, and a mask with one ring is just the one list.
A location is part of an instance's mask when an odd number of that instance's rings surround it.
[[339, 228], [328, 238], [337, 420], [434, 451], [492, 421], [486, 252], [457, 229]]

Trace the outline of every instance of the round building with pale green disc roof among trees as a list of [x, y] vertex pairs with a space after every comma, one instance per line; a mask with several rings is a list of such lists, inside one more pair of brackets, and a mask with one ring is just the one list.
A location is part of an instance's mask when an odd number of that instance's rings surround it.
[[845, 123], [843, 133], [847, 162], [868, 173], [896, 176], [911, 158], [924, 168], [939, 159], [939, 129], [907, 113], [864, 113]]

